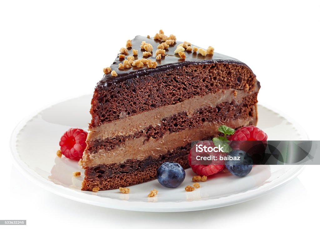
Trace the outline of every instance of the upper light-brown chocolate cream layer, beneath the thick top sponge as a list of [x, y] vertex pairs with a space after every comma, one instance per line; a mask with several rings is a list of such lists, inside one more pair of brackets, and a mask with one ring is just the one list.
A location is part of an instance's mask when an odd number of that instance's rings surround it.
[[233, 100], [235, 100], [236, 103], [239, 103], [246, 96], [250, 95], [250, 93], [255, 93], [257, 91], [257, 85], [251, 92], [235, 89], [221, 90], [214, 94], [210, 93], [204, 96], [195, 96], [180, 103], [156, 107], [152, 110], [148, 110], [137, 115], [124, 117], [113, 122], [104, 123], [99, 127], [91, 128], [89, 129], [90, 132], [88, 134], [87, 141], [112, 138], [114, 136], [131, 135], [148, 127], [149, 125], [154, 127], [156, 127], [156, 125], [161, 125], [162, 119], [176, 113], [187, 111], [187, 114], [190, 117], [200, 107], [216, 107], [216, 105], [220, 103], [230, 103]]

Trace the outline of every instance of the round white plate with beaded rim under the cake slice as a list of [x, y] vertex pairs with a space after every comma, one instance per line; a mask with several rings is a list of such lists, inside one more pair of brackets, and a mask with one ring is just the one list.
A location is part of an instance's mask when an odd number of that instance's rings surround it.
[[[241, 203], [261, 196], [292, 180], [303, 166], [253, 166], [243, 178], [228, 171], [213, 175], [193, 192], [184, 187], [191, 185], [195, 175], [186, 170], [186, 179], [178, 188], [164, 188], [157, 180], [131, 186], [130, 194], [118, 190], [97, 193], [81, 191], [84, 171], [76, 161], [58, 158], [59, 140], [71, 127], [87, 129], [91, 95], [57, 103], [21, 121], [12, 133], [11, 149], [16, 167], [36, 184], [47, 190], [83, 203], [132, 211], [196, 211]], [[258, 106], [259, 127], [268, 134], [269, 140], [308, 140], [305, 131], [287, 121], [274, 111]], [[81, 177], [72, 172], [81, 171]], [[156, 188], [158, 195], [148, 198]]]

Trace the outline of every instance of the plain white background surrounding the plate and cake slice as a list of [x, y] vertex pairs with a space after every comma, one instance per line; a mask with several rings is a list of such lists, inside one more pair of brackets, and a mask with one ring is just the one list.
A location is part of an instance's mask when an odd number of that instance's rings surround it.
[[292, 182], [258, 199], [185, 213], [77, 203], [35, 186], [15, 169], [9, 139], [22, 118], [92, 93], [126, 40], [159, 29], [246, 63], [261, 83], [259, 102], [283, 111], [311, 140], [320, 140], [319, 1], [1, 1], [0, 219], [27, 219], [28, 228], [315, 226], [320, 166], [307, 166]]

